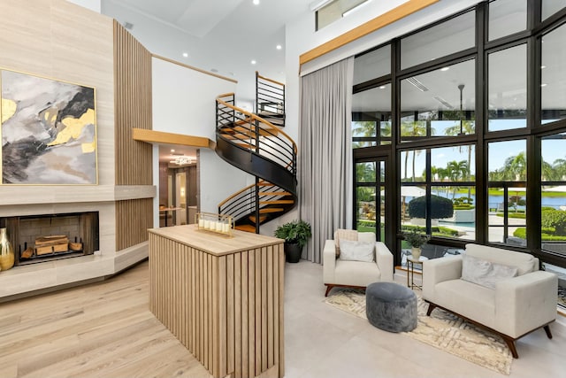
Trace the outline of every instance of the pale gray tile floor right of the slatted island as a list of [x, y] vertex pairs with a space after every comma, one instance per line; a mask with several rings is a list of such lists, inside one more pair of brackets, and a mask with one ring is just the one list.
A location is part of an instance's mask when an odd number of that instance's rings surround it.
[[[287, 378], [505, 376], [326, 305], [321, 265], [287, 263], [285, 280]], [[566, 377], [566, 318], [550, 327], [552, 340], [539, 329], [516, 343], [510, 377]]]

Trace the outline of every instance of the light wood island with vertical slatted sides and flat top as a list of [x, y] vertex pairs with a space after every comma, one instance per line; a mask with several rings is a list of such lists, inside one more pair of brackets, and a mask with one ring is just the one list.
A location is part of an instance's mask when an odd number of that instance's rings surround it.
[[210, 374], [282, 377], [283, 240], [149, 229], [149, 310]]

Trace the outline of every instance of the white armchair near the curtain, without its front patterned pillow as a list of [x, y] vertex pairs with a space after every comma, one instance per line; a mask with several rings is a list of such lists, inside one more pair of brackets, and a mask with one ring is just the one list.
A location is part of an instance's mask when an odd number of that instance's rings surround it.
[[[340, 235], [348, 235], [346, 240], [375, 243], [374, 261], [350, 261], [337, 257]], [[393, 282], [393, 254], [386, 244], [376, 242], [375, 234], [371, 232], [337, 230], [334, 233], [334, 240], [326, 240], [323, 264], [325, 297], [336, 286], [365, 289], [372, 282]]]

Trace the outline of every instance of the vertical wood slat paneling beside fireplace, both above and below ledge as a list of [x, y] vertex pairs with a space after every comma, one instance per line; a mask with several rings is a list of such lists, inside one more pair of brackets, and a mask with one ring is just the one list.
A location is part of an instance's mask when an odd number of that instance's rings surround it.
[[[152, 146], [132, 129], [151, 129], [151, 54], [114, 20], [116, 185], [152, 185]], [[148, 240], [153, 198], [116, 202], [116, 251]]]

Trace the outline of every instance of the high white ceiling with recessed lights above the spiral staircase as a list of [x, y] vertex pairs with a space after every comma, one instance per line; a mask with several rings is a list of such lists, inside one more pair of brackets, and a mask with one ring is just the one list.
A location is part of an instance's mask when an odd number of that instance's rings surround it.
[[130, 33], [157, 55], [238, 81], [256, 70], [284, 81], [285, 24], [309, 13], [310, 1], [102, 0], [102, 12], [130, 24]]

